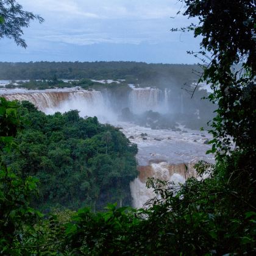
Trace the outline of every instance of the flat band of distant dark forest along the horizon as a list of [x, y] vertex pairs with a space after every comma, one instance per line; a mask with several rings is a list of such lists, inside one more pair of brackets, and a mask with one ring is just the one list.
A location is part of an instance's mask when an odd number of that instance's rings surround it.
[[0, 62], [0, 79], [126, 79], [127, 82], [191, 83], [198, 65], [147, 64], [143, 62]]

